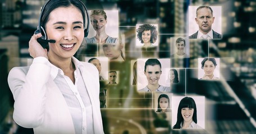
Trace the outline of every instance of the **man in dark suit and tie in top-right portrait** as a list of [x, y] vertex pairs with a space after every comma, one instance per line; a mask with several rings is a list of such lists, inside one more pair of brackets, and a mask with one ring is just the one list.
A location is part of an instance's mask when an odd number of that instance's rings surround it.
[[195, 22], [198, 24], [199, 31], [189, 36], [189, 39], [221, 39], [222, 35], [212, 30], [214, 18], [211, 7], [198, 7], [196, 9]]

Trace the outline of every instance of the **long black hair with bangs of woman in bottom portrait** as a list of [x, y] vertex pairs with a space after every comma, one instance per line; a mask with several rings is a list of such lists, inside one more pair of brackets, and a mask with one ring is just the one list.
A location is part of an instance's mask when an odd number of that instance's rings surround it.
[[192, 119], [195, 123], [197, 123], [195, 100], [191, 97], [185, 97], [185, 98], [180, 100], [180, 104], [179, 104], [178, 111], [177, 111], [177, 122], [173, 126], [173, 129], [180, 129], [181, 128], [180, 124], [183, 123], [183, 121], [184, 121], [184, 119], [181, 115], [181, 109], [182, 108], [193, 108], [194, 113], [193, 113]]

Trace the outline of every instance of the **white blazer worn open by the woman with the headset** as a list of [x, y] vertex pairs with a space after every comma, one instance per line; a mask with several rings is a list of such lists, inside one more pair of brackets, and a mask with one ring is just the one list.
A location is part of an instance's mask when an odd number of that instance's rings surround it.
[[[94, 132], [104, 133], [99, 73], [93, 64], [81, 63], [84, 65], [82, 77], [92, 102]], [[34, 128], [34, 133], [75, 133], [71, 113], [53, 82], [48, 60], [42, 63], [34, 59], [31, 66], [13, 68], [8, 75], [8, 84], [15, 99], [13, 119], [18, 125]]]

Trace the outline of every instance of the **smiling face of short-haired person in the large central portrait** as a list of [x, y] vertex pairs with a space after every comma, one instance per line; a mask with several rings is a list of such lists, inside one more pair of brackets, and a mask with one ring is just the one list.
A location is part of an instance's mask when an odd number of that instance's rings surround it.
[[158, 84], [162, 72], [159, 65], [148, 65], [144, 74], [147, 76], [148, 84], [154, 85]]

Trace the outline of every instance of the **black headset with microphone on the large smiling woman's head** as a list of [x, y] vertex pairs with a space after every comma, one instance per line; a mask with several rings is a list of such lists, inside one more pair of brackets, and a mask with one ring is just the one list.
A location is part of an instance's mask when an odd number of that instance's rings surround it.
[[[41, 9], [41, 13], [40, 13], [40, 16], [39, 16], [39, 19], [38, 19], [38, 27], [37, 27], [37, 29], [35, 30], [35, 34], [37, 34], [37, 33], [42, 33], [42, 37], [40, 37], [40, 38], [38, 38], [37, 39], [37, 41], [39, 42], [39, 44], [44, 48], [44, 49], [49, 49], [49, 42], [50, 43], [55, 43], [56, 42], [56, 40], [51, 40], [51, 39], [47, 39], [47, 34], [46, 34], [46, 32], [45, 32], [45, 30], [44, 30], [44, 28], [41, 26], [41, 21], [42, 21], [42, 14], [43, 14], [43, 12], [44, 12], [44, 8], [45, 8], [45, 6], [49, 3], [49, 1], [52, 1], [52, 0], [48, 0], [45, 4], [44, 4], [44, 6], [42, 7], [42, 9]], [[83, 7], [84, 7], [84, 9], [85, 9], [85, 15], [86, 15], [86, 17], [87, 17], [87, 26], [86, 26], [86, 28], [85, 28], [85, 22], [84, 22], [84, 37], [87, 37], [88, 36], [88, 32], [89, 32], [89, 23], [90, 23], [90, 20], [89, 20], [89, 15], [88, 15], [88, 12], [87, 12], [87, 8], [85, 7], [85, 4], [83, 3], [83, 2], [81, 2], [80, 0], [77, 0], [77, 1], [79, 1], [82, 5], [83, 5]]]

